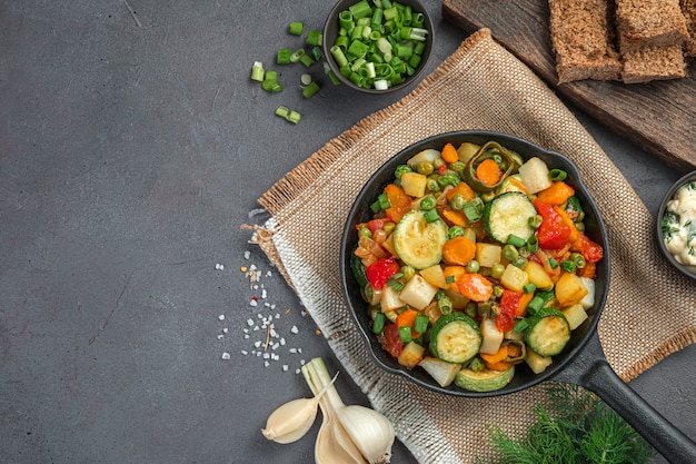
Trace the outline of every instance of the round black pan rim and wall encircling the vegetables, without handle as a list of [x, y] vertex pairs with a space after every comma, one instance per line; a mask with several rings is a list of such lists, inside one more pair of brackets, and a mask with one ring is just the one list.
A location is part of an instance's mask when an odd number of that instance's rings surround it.
[[[370, 204], [375, 201], [377, 196], [382, 191], [382, 188], [394, 179], [394, 170], [398, 165], [405, 164], [407, 159], [424, 149], [435, 148], [439, 150], [447, 142], [451, 142], [455, 147], [458, 147], [464, 141], [484, 145], [489, 140], [498, 141], [501, 146], [521, 155], [524, 159], [539, 157], [546, 161], [549, 169], [559, 168], [568, 172], [567, 181], [575, 188], [576, 196], [580, 199], [585, 209], [585, 233], [589, 238], [604, 247], [605, 257], [597, 263], [595, 306], [588, 310], [589, 317], [585, 320], [585, 323], [573, 330], [573, 336], [566, 349], [560, 355], [554, 356], [554, 364], [551, 364], [544, 373], [537, 375], [534, 374], [525, 363], [521, 363], [516, 366], [515, 377], [506, 387], [495, 392], [478, 393], [461, 389], [454, 384], [447, 387], [441, 387], [420, 367], [408, 369], [399, 365], [395, 358], [381, 348], [377, 337], [372, 334], [370, 328], [367, 304], [362, 299], [360, 288], [351, 274], [350, 258], [358, 241], [356, 226], [371, 218], [372, 213], [370, 210]], [[599, 216], [599, 210], [597, 209], [591, 196], [583, 185], [577, 168], [567, 157], [554, 151], [545, 150], [531, 142], [509, 135], [485, 131], [457, 131], [441, 134], [411, 145], [410, 147], [401, 150], [399, 154], [396, 154], [372, 175], [358, 195], [348, 215], [341, 243], [340, 272], [344, 295], [347, 304], [352, 313], [358, 328], [365, 337], [367, 347], [372, 358], [380, 367], [388, 372], [402, 375], [416, 384], [436, 392], [457, 396], [484, 397], [503, 395], [528, 388], [539, 382], [553, 377], [568, 363], [573, 362], [576, 354], [583, 349], [584, 345], [594, 334], [599, 319], [599, 314], [601, 313], [601, 308], [604, 307], [607, 297], [609, 286], [609, 250], [607, 233], [604, 221]]]

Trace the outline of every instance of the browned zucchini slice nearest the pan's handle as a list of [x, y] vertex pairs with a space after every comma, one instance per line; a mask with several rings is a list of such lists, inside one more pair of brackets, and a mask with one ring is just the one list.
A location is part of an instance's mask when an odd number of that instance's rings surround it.
[[529, 318], [525, 333], [527, 347], [539, 356], [555, 356], [563, 352], [570, 339], [570, 325], [561, 312], [541, 308]]

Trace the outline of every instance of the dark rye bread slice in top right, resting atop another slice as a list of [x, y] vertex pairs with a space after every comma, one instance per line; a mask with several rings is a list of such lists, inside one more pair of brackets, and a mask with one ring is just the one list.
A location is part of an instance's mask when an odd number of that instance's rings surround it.
[[689, 37], [679, 0], [616, 0], [616, 28], [622, 53], [683, 45]]

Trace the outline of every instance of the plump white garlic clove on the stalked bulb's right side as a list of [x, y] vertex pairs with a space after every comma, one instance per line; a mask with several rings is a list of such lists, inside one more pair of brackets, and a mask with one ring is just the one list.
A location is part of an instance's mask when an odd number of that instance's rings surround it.
[[341, 407], [336, 414], [369, 464], [389, 462], [395, 432], [384, 414], [360, 405]]

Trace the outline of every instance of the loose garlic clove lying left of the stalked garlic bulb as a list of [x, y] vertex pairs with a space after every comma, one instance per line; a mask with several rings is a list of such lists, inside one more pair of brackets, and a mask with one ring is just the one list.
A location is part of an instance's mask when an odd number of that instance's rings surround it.
[[277, 443], [292, 443], [309, 432], [317, 417], [317, 402], [314, 398], [298, 398], [288, 402], [268, 416], [264, 436]]

